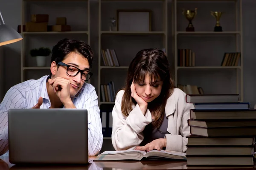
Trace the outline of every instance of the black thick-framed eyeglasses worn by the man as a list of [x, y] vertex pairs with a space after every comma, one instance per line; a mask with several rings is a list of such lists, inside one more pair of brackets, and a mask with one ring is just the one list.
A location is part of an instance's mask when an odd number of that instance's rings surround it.
[[75, 77], [77, 74], [81, 73], [81, 79], [83, 79], [84, 81], [89, 80], [93, 76], [93, 73], [90, 71], [80, 70], [79, 68], [73, 65], [67, 65], [64, 62], [58, 62], [58, 65], [66, 66], [67, 75], [69, 76]]

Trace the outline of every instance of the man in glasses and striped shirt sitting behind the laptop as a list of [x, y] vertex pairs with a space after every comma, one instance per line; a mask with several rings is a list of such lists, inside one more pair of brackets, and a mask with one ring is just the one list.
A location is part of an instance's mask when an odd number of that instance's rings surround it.
[[[0, 155], [8, 151], [10, 108], [84, 108], [88, 111], [89, 156], [102, 148], [102, 124], [95, 88], [87, 84], [93, 75], [93, 51], [85, 42], [60, 40], [52, 48], [51, 73], [27, 80], [7, 91], [0, 104]], [[25, 133], [25, 132], [24, 132]]]

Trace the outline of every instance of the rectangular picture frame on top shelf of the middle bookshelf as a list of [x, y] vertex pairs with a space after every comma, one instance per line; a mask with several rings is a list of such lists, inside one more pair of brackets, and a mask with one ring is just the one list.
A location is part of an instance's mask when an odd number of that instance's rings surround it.
[[117, 31], [151, 31], [151, 11], [149, 10], [117, 10]]

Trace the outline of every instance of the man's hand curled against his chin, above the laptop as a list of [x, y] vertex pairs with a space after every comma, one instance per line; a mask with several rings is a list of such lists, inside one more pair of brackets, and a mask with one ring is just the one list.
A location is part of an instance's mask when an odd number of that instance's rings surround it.
[[61, 100], [65, 108], [76, 108], [70, 98], [70, 81], [61, 77], [49, 79], [49, 84], [52, 85], [53, 91]]

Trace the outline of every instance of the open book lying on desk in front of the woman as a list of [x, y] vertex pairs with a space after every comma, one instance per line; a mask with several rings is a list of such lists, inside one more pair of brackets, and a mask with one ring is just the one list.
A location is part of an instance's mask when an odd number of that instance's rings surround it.
[[141, 150], [118, 150], [105, 151], [99, 154], [93, 161], [119, 161], [119, 160], [141, 160], [148, 159], [180, 159], [186, 160], [186, 153], [168, 151], [168, 150], [151, 150], [149, 152]]

